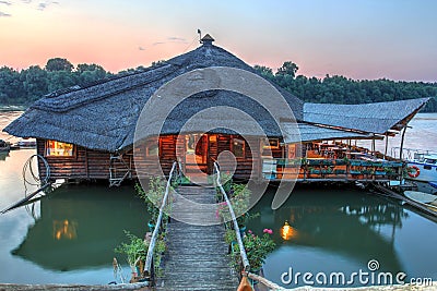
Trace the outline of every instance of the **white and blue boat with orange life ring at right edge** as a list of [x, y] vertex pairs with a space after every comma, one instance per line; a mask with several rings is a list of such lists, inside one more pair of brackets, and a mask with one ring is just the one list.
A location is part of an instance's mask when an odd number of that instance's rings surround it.
[[437, 189], [437, 154], [415, 151], [408, 159], [405, 179], [426, 183], [430, 189]]

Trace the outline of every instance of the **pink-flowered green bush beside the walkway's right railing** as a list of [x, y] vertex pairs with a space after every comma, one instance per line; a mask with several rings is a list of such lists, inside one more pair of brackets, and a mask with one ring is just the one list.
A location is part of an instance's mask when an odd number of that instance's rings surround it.
[[[273, 234], [271, 229], [264, 229], [262, 237], [255, 234], [251, 230], [243, 239], [243, 244], [246, 250], [247, 259], [249, 260], [252, 270], [259, 270], [264, 264], [267, 256], [273, 252], [275, 243], [270, 237]], [[234, 268], [239, 272], [241, 271], [241, 257], [239, 255], [239, 247], [236, 245], [232, 253], [232, 262]]]

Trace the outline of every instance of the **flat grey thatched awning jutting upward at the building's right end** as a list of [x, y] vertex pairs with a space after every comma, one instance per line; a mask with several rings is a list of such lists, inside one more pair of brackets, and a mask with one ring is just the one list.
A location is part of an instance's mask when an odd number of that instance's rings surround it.
[[305, 104], [304, 121], [385, 134], [401, 130], [429, 98], [361, 105]]

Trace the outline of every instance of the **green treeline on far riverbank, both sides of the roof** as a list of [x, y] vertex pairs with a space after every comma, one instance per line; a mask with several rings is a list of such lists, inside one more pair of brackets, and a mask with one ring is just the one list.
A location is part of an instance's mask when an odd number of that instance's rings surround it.
[[[338, 75], [307, 77], [297, 75], [297, 64], [290, 61], [284, 62], [276, 73], [267, 66], [255, 65], [255, 69], [308, 102], [363, 104], [437, 96], [437, 83], [394, 82], [386, 78], [355, 81]], [[118, 74], [132, 71], [134, 69]], [[82, 63], [74, 68], [62, 58], [48, 60], [45, 68], [32, 65], [16, 71], [3, 66], [0, 68], [0, 105], [29, 105], [48, 93], [75, 85], [86, 86], [113, 75], [98, 64]], [[430, 100], [423, 111], [437, 112], [436, 99]]]

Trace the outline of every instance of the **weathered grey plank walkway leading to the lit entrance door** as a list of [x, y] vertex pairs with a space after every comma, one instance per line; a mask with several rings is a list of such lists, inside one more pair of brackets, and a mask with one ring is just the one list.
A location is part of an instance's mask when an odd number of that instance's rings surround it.
[[[215, 190], [180, 186], [184, 197], [203, 204], [215, 203]], [[176, 216], [197, 218], [198, 221], [216, 219], [215, 211], [204, 207], [181, 207], [176, 201]], [[156, 290], [236, 290], [238, 281], [229, 266], [223, 225], [193, 226], [172, 219], [167, 228], [167, 251], [164, 277]]]

